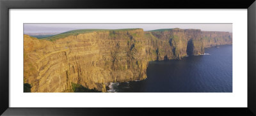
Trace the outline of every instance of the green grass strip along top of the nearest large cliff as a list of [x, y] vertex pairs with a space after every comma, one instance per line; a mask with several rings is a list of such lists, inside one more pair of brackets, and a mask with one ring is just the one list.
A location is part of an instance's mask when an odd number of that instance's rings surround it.
[[[136, 29], [138, 29], [138, 28], [136, 28]], [[54, 36], [49, 36], [47, 38], [41, 38], [41, 39], [55, 41], [60, 38], [65, 38], [67, 36], [76, 36], [81, 33], [91, 33], [93, 31], [130, 31], [130, 30], [134, 30], [134, 29], [78, 29], [78, 30], [67, 31], [65, 33], [56, 34]]]

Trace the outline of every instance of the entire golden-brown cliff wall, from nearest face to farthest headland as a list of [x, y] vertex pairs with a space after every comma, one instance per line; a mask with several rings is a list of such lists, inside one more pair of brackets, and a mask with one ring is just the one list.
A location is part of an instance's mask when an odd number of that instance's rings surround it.
[[73, 83], [104, 92], [109, 82], [147, 78], [148, 61], [223, 44], [232, 44], [232, 35], [198, 29], [93, 31], [56, 41], [24, 35], [24, 83], [31, 92], [70, 92]]

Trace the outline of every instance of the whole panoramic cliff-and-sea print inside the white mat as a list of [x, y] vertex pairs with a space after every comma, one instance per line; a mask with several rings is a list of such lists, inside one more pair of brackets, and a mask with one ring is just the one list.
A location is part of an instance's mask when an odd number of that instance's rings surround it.
[[232, 92], [232, 24], [24, 24], [24, 92]]

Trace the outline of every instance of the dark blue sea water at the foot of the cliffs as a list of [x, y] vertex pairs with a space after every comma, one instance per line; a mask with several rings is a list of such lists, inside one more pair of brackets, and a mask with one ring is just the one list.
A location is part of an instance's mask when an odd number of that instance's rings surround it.
[[146, 80], [111, 83], [112, 92], [232, 92], [232, 45], [177, 61], [149, 62]]

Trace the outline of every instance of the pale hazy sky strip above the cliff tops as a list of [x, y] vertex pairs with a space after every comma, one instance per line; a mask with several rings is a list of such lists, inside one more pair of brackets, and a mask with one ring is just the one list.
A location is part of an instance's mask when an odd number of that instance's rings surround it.
[[24, 24], [24, 34], [58, 34], [76, 29], [201, 29], [202, 31], [226, 31], [232, 33], [232, 24]]

